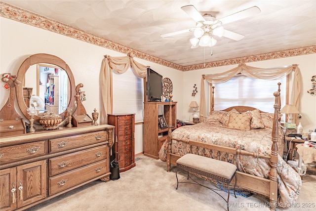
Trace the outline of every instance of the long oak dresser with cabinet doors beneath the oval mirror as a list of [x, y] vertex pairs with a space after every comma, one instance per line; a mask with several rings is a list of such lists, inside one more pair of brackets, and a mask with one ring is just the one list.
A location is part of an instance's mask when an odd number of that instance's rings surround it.
[[101, 125], [0, 138], [0, 210], [25, 210], [91, 181], [108, 181], [113, 131]]

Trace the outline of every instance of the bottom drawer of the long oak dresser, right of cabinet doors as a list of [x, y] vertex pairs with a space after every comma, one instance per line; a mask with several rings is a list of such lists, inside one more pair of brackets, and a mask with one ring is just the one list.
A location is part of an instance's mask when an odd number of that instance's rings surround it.
[[64, 191], [68, 188], [88, 181], [89, 179], [102, 176], [109, 172], [108, 161], [104, 160], [95, 164], [91, 164], [80, 169], [72, 170], [56, 176], [48, 178], [49, 195]]

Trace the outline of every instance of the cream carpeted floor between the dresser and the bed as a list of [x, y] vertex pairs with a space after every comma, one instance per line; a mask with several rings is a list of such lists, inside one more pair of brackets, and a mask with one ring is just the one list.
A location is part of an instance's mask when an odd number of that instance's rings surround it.
[[[91, 182], [76, 190], [37, 205], [27, 211], [225, 211], [226, 202], [211, 190], [194, 184], [179, 184], [175, 167], [166, 171], [166, 163], [144, 155], [136, 157], [136, 167], [120, 173], [120, 179]], [[180, 175], [180, 176], [179, 176]], [[185, 173], [178, 174], [185, 181]], [[216, 185], [194, 177], [216, 188]], [[314, 211], [316, 175], [303, 177], [303, 188], [296, 207], [286, 211]], [[226, 199], [227, 193], [221, 192]], [[310, 204], [308, 204], [310, 203]], [[269, 200], [256, 194], [230, 196], [230, 211], [269, 211]], [[304, 207], [304, 208], [303, 208]], [[309, 208], [306, 208], [309, 207]], [[279, 210], [279, 209], [277, 209]]]

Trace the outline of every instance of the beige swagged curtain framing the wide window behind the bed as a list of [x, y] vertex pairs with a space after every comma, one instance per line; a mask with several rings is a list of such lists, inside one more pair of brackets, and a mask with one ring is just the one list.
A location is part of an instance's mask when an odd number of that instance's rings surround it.
[[[224, 73], [212, 74], [212, 75], [203, 75], [201, 80], [201, 95], [200, 95], [200, 119], [207, 117], [206, 114], [206, 102], [205, 102], [205, 89], [204, 89], [204, 80], [210, 84], [221, 84], [231, 80], [238, 73], [243, 74], [244, 76], [254, 78], [254, 79], [266, 79], [266, 80], [278, 80], [288, 74], [293, 73], [293, 85], [291, 91], [290, 104], [296, 106], [299, 109], [299, 94], [301, 92], [301, 75], [300, 69], [297, 64], [293, 64], [290, 67], [286, 68], [257, 68], [247, 66], [246, 64], [239, 64], [238, 67], [233, 68]], [[272, 94], [272, 93], [271, 93]]]

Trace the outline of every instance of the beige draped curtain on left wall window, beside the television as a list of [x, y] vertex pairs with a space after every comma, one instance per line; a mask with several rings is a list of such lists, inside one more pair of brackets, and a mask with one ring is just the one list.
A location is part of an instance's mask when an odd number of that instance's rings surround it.
[[133, 59], [134, 54], [127, 56], [111, 57], [105, 55], [102, 61], [100, 84], [101, 84], [101, 114], [100, 124], [108, 123], [108, 114], [113, 112], [113, 71], [119, 74], [125, 73], [129, 67], [133, 68], [136, 76], [145, 78], [147, 76], [147, 66], [142, 65]]

